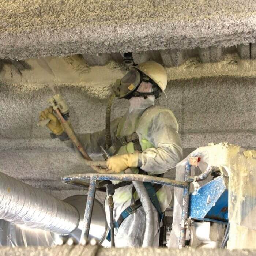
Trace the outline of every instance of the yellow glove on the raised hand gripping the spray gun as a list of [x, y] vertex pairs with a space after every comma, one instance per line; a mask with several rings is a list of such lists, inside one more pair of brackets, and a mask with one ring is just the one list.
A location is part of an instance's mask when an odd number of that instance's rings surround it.
[[64, 129], [58, 120], [56, 116], [53, 114], [53, 108], [49, 107], [48, 109], [45, 109], [44, 111], [41, 111], [39, 120], [44, 120], [49, 118], [51, 121], [46, 124], [46, 126], [55, 134], [60, 135], [64, 132]]

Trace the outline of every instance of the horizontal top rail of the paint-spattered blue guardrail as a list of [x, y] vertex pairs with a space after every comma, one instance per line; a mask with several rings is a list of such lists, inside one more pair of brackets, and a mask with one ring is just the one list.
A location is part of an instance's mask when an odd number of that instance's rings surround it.
[[91, 178], [96, 180], [120, 180], [120, 181], [141, 181], [157, 183], [161, 185], [173, 186], [177, 188], [188, 188], [188, 182], [170, 180], [167, 178], [154, 177], [142, 174], [100, 174], [100, 173], [85, 173], [74, 174], [62, 177], [64, 183], [75, 183], [76, 181], [88, 181]]

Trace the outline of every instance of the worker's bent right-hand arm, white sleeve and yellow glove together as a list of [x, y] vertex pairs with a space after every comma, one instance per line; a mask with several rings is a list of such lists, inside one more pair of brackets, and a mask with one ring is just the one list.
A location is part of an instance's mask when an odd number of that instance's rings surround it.
[[[142, 124], [143, 125], [143, 124]], [[142, 128], [140, 133], [140, 128]], [[143, 152], [114, 155], [106, 163], [108, 169], [119, 173], [128, 167], [140, 167], [149, 174], [165, 173], [182, 159], [182, 147], [178, 135], [178, 125], [170, 112], [160, 112], [152, 120], [147, 134], [144, 127], [137, 129], [140, 142], [146, 139], [155, 147]]]

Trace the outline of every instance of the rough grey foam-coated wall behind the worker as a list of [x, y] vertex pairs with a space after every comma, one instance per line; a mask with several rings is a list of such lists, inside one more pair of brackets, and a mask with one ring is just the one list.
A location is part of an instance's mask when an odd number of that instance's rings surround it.
[[[56, 191], [59, 197], [73, 189], [60, 183], [65, 174], [89, 172], [46, 128], [38, 128], [39, 112], [52, 91], [42, 87], [0, 84], [0, 171], [36, 187]], [[76, 132], [104, 128], [106, 100], [91, 97], [81, 87], [57, 87], [70, 106]], [[256, 79], [212, 77], [169, 82], [167, 99], [158, 104], [173, 110], [180, 125], [184, 154], [214, 142], [242, 147], [256, 145]], [[125, 112], [128, 102], [116, 100], [113, 118]], [[173, 177], [174, 171], [168, 173]], [[54, 192], [53, 192], [54, 193]]]

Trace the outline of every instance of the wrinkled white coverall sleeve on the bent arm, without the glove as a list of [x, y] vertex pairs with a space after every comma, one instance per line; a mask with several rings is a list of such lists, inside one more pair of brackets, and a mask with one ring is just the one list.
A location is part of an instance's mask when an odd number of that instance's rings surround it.
[[182, 159], [177, 123], [169, 112], [160, 112], [153, 118], [147, 140], [155, 148], [144, 150], [139, 156], [139, 162], [141, 169], [151, 175], [165, 173]]

